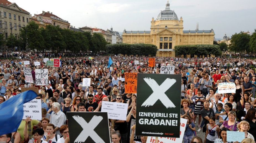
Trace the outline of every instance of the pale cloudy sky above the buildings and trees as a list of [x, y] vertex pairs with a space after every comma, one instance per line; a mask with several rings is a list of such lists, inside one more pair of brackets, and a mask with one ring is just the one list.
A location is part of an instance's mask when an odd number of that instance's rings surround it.
[[[9, 0], [34, 14], [42, 11], [68, 20], [70, 25], [97, 27], [113, 31], [149, 31], [151, 18], [165, 10], [167, 0]], [[183, 30], [213, 28], [215, 38], [231, 37], [256, 29], [255, 0], [170, 0], [170, 9], [183, 18]]]

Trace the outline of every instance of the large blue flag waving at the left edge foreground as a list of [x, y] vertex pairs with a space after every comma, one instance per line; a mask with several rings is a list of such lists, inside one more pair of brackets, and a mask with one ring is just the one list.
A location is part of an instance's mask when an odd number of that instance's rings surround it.
[[23, 104], [36, 97], [34, 91], [28, 90], [0, 104], [0, 135], [17, 131], [23, 117]]

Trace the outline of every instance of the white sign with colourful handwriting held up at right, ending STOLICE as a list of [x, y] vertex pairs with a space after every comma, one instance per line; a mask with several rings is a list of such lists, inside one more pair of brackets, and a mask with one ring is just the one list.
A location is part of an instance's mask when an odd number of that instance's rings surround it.
[[235, 83], [219, 83], [218, 84], [218, 93], [236, 93], [236, 84]]

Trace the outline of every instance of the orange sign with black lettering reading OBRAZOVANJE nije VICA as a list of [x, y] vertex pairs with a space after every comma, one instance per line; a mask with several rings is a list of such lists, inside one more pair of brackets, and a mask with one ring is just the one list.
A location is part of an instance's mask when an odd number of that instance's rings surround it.
[[125, 73], [125, 93], [137, 93], [138, 73]]

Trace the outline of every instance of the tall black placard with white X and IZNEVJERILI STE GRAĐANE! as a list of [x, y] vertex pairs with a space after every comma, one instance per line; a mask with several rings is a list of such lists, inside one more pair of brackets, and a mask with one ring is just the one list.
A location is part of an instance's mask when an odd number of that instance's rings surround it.
[[138, 73], [136, 135], [180, 137], [181, 75]]

